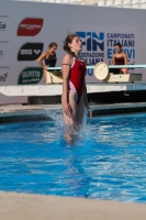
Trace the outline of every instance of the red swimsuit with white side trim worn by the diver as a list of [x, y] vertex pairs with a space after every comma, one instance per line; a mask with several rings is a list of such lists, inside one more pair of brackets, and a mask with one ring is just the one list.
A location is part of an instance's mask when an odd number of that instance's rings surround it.
[[78, 61], [77, 58], [74, 58], [74, 64], [70, 68], [69, 74], [69, 90], [76, 91], [77, 103], [79, 103], [83, 95], [85, 74], [86, 63], [83, 61]]

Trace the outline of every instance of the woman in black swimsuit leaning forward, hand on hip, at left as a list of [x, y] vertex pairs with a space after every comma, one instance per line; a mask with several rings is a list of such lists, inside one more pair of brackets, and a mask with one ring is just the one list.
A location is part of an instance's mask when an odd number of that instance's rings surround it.
[[[56, 62], [57, 62], [56, 50], [57, 50], [57, 44], [55, 42], [52, 42], [48, 45], [48, 51], [43, 53], [37, 58], [37, 63], [44, 69], [44, 78], [45, 78], [45, 80], [47, 79], [47, 68], [48, 67], [55, 67], [55, 65], [56, 65]], [[43, 61], [44, 61], [45, 64], [43, 64]]]

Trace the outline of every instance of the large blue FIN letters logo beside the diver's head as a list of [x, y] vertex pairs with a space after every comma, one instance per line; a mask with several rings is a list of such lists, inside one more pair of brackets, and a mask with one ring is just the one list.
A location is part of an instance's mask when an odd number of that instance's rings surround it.
[[88, 52], [97, 52], [97, 51], [104, 51], [104, 33], [100, 32], [97, 34], [96, 32], [79, 32], [77, 31], [76, 34], [78, 34], [82, 41], [82, 46], [87, 47]]

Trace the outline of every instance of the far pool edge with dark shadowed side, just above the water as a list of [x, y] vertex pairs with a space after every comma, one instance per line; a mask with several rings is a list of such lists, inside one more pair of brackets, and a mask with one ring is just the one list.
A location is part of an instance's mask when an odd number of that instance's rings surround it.
[[[90, 106], [92, 108], [93, 116], [97, 117], [113, 114], [113, 113], [146, 112], [146, 102], [90, 105]], [[25, 120], [31, 121], [33, 118], [52, 120], [52, 112], [57, 110], [59, 111], [61, 110], [60, 105], [0, 106], [0, 123], [4, 123], [4, 121], [5, 122], [16, 122], [16, 121], [20, 122]]]

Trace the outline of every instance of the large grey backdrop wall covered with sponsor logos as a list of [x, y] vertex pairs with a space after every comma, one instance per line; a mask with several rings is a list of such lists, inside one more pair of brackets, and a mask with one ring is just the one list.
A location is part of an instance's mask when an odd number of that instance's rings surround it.
[[[89, 65], [100, 61], [110, 64], [117, 41], [123, 43], [130, 64], [145, 63], [146, 10], [2, 0], [0, 3], [0, 86], [45, 84], [36, 59], [55, 41], [60, 66], [63, 40], [68, 32], [80, 35], [82, 55]], [[146, 79], [145, 69], [141, 73]], [[89, 69], [87, 81], [96, 80]], [[0, 94], [0, 105], [18, 102], [26, 102], [26, 98]]]

